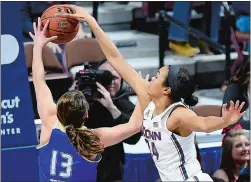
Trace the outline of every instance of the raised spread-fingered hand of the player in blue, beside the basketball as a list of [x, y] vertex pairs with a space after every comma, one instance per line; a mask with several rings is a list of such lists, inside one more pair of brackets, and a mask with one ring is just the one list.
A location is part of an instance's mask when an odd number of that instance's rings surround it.
[[41, 19], [40, 19], [40, 17], [38, 18], [38, 24], [37, 25], [36, 25], [35, 22], [33, 22], [34, 34], [32, 34], [31, 32], [29, 32], [29, 34], [30, 34], [31, 38], [34, 41], [34, 46], [43, 47], [48, 42], [50, 42], [52, 40], [55, 40], [57, 38], [57, 36], [53, 36], [53, 37], [49, 37], [49, 38], [47, 38], [45, 36], [48, 25], [49, 25], [49, 20], [47, 20], [47, 22], [45, 23], [45, 25], [44, 25], [44, 27], [42, 29], [41, 28]]

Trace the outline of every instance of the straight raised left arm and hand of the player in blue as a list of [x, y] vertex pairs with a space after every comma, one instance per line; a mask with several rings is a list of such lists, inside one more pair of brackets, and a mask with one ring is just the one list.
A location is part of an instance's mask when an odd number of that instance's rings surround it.
[[45, 31], [49, 21], [41, 30], [41, 20], [38, 19], [38, 25], [33, 23], [34, 35], [29, 33], [34, 41], [33, 61], [32, 61], [32, 80], [35, 88], [37, 109], [40, 119], [42, 120], [42, 129], [40, 136], [40, 144], [46, 144], [49, 140], [54, 122], [57, 121], [57, 109], [53, 102], [51, 91], [45, 82], [45, 71], [42, 61], [42, 49], [50, 41], [56, 37], [46, 38]]

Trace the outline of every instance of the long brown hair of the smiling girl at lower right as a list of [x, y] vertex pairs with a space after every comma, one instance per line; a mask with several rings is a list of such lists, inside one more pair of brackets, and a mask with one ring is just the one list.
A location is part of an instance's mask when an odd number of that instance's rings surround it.
[[237, 136], [244, 135], [244, 132], [242, 129], [233, 129], [229, 133], [226, 134], [226, 139], [224, 140], [224, 143], [222, 144], [222, 155], [221, 155], [221, 164], [220, 169], [224, 169], [227, 172], [229, 181], [233, 181], [233, 169], [235, 169], [235, 162], [232, 157], [232, 139]]

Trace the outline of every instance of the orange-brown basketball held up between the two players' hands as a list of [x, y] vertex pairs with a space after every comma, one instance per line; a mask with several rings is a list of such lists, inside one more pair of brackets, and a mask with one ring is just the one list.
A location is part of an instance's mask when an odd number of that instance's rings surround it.
[[48, 31], [46, 31], [46, 37], [57, 36], [53, 43], [65, 44], [70, 42], [78, 33], [79, 21], [72, 17], [64, 17], [57, 15], [56, 13], [70, 13], [73, 14], [72, 10], [67, 5], [54, 5], [45, 10], [41, 17], [41, 25], [45, 25], [46, 21], [49, 20]]

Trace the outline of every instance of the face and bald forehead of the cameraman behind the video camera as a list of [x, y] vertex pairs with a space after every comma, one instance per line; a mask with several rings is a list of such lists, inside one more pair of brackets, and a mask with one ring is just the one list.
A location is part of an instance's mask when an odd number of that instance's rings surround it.
[[99, 67], [100, 70], [110, 71], [113, 75], [113, 80], [110, 85], [106, 87], [107, 91], [114, 97], [121, 87], [121, 76], [113, 69], [109, 63], [104, 63]]

